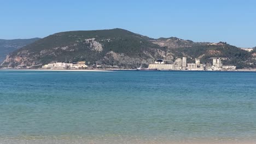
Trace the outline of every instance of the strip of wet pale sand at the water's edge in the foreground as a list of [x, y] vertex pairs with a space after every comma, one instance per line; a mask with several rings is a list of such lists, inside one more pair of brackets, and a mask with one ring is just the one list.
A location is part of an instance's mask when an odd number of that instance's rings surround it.
[[122, 137], [102, 137], [100, 139], [3, 139], [0, 138], [1, 144], [86, 144], [86, 143], [97, 143], [97, 144], [119, 144], [119, 143], [131, 143], [131, 144], [255, 144], [255, 140], [166, 140], [166, 139], [123, 139]]

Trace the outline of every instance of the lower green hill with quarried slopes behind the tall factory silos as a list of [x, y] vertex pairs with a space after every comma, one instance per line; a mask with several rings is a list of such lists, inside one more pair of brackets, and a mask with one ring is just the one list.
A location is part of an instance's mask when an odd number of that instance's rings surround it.
[[219, 45], [194, 45], [173, 50], [177, 57], [188, 56], [188, 62], [194, 62], [195, 58], [201, 59], [201, 63], [212, 63], [211, 57], [228, 57], [223, 61], [225, 65], [236, 65], [237, 68], [255, 68], [255, 59], [252, 52], [241, 50], [236, 46], [225, 43]]

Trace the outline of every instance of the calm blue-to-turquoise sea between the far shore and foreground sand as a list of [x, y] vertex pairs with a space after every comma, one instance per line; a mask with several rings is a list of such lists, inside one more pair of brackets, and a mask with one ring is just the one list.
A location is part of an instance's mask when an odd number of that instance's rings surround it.
[[256, 140], [256, 73], [0, 71], [0, 139]]

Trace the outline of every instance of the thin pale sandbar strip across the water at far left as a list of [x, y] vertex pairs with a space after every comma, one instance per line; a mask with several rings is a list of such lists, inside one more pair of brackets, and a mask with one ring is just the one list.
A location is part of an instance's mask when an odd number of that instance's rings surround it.
[[89, 70], [89, 69], [0, 69], [0, 70], [13, 70], [13, 71], [112, 71], [112, 70]]

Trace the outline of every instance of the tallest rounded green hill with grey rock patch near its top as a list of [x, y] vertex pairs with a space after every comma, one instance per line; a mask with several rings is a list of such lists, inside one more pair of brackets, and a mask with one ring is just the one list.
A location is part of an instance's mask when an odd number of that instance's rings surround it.
[[53, 61], [86, 61], [106, 67], [136, 68], [156, 58], [172, 59], [171, 53], [148, 38], [124, 29], [76, 31], [49, 35], [36, 43], [10, 53], [2, 63], [17, 65], [47, 64]]

